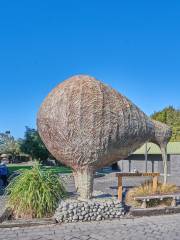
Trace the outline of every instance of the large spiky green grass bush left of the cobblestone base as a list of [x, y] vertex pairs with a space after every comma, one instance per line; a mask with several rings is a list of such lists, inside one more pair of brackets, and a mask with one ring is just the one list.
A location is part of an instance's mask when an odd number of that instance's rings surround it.
[[57, 175], [36, 163], [10, 182], [6, 194], [15, 217], [41, 218], [53, 214], [66, 191]]

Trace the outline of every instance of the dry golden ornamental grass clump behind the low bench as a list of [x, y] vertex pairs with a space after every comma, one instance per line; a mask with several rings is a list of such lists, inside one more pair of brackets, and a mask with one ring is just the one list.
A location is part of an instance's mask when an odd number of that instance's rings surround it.
[[[176, 185], [173, 184], [162, 184], [158, 182], [157, 191], [153, 192], [153, 183], [152, 181], [145, 181], [139, 187], [135, 187], [130, 189], [126, 194], [126, 203], [128, 205], [132, 205], [134, 207], [139, 207], [141, 205], [141, 201], [134, 200], [134, 197], [141, 197], [141, 196], [150, 196], [153, 194], [171, 194], [177, 192], [178, 189]], [[148, 207], [158, 206], [160, 204], [170, 205], [171, 199], [164, 199], [160, 201], [159, 199], [151, 199], [147, 202]]]

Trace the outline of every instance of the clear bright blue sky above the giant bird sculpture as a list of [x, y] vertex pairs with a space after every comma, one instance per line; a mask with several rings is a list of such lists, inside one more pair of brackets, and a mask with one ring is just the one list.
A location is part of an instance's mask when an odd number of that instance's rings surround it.
[[0, 132], [23, 137], [48, 92], [82, 73], [147, 114], [180, 107], [180, 1], [0, 2]]

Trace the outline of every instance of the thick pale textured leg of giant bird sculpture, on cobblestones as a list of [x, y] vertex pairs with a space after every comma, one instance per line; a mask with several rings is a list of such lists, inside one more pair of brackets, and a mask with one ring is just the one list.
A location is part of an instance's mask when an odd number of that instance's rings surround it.
[[94, 172], [92, 169], [81, 169], [73, 172], [75, 187], [80, 199], [86, 200], [92, 197]]

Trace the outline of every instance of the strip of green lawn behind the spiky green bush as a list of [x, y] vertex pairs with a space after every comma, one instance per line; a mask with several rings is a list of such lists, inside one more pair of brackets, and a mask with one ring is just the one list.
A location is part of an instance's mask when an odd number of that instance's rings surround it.
[[[12, 174], [15, 171], [18, 170], [24, 170], [24, 169], [31, 169], [32, 166], [21, 166], [17, 164], [8, 164], [8, 170], [9, 174]], [[44, 169], [51, 169], [54, 173], [71, 173], [72, 170], [69, 167], [66, 166], [43, 166]]]

